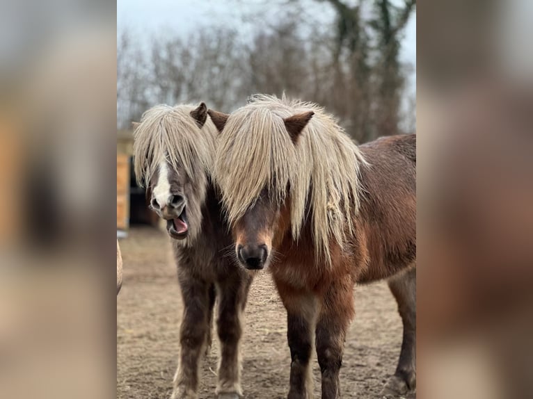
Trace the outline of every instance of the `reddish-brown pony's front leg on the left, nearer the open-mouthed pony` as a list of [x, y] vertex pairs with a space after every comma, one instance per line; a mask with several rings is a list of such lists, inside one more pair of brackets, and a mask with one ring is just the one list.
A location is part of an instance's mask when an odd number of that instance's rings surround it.
[[287, 309], [287, 341], [291, 351], [291, 373], [288, 399], [312, 398], [310, 358], [313, 329], [316, 323], [317, 298], [307, 291], [295, 290], [276, 282]]

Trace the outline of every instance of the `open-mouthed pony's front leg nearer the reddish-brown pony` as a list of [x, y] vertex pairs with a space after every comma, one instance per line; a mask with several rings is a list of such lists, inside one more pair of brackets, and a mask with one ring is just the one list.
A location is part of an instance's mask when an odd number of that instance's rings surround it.
[[242, 335], [241, 316], [252, 278], [241, 275], [218, 282], [219, 302], [216, 320], [221, 341], [221, 361], [218, 366], [216, 395], [218, 399], [238, 399], [242, 396], [239, 341]]

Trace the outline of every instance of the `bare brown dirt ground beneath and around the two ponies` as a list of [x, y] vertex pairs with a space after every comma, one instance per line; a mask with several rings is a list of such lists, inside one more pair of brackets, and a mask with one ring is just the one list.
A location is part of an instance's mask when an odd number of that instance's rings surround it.
[[[177, 366], [182, 301], [170, 238], [152, 227], [135, 227], [120, 241], [124, 281], [117, 298], [117, 398], [170, 398]], [[343, 398], [377, 398], [394, 373], [401, 320], [385, 283], [359, 286], [356, 319], [347, 336], [341, 370]], [[242, 344], [245, 398], [285, 398], [290, 355], [285, 309], [268, 272], [250, 290]], [[216, 335], [216, 334], [215, 334]], [[200, 399], [214, 398], [218, 341], [202, 363]], [[315, 398], [320, 371], [312, 359]], [[408, 399], [414, 399], [415, 395]]]

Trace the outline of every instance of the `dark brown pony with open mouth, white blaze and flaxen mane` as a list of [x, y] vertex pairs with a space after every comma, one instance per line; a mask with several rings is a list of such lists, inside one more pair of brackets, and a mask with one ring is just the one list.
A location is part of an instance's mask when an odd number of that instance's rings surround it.
[[184, 302], [172, 398], [196, 398], [200, 357], [211, 343], [218, 298], [218, 398], [239, 398], [241, 314], [251, 277], [225, 254], [232, 240], [209, 177], [216, 128], [207, 108], [155, 106], [134, 132], [134, 168], [150, 207], [166, 220]]

